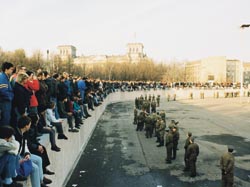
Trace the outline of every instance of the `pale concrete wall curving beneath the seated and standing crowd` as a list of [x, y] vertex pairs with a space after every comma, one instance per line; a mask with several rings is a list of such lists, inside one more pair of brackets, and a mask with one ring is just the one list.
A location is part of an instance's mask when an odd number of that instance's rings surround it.
[[[48, 178], [53, 180], [53, 183], [50, 186], [61, 187], [65, 186], [67, 180], [69, 179], [71, 172], [73, 171], [75, 165], [77, 164], [82, 152], [85, 149], [85, 146], [90, 139], [98, 119], [104, 112], [106, 106], [113, 102], [119, 101], [128, 101], [134, 100], [135, 97], [140, 95], [145, 96], [145, 94], [151, 95], [160, 95], [161, 99], [164, 100], [167, 98], [167, 95], [170, 94], [171, 97], [173, 94], [176, 94], [177, 100], [189, 99], [190, 93], [193, 93], [193, 99], [199, 99], [200, 93], [204, 90], [157, 90], [157, 91], [136, 91], [136, 92], [115, 92], [105, 99], [102, 105], [95, 108], [94, 111], [90, 111], [92, 117], [84, 121], [84, 125], [81, 127], [79, 133], [68, 133], [67, 122], [64, 122], [64, 131], [68, 136], [68, 140], [57, 140], [57, 145], [61, 148], [60, 152], [51, 151], [48, 135], [43, 135], [41, 137], [41, 142], [47, 148], [51, 165], [49, 168], [52, 171], [55, 171], [55, 175], [48, 176]], [[204, 95], [207, 97], [214, 97], [214, 93], [219, 92], [220, 97], [223, 95], [224, 90], [205, 90]], [[29, 182], [26, 186], [30, 186]]]

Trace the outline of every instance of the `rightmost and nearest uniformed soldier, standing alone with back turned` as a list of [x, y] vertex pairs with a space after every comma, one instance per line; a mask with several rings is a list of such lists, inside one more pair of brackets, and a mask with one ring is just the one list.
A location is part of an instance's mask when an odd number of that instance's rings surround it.
[[228, 146], [228, 151], [220, 158], [221, 186], [232, 187], [234, 185], [234, 156], [233, 147]]

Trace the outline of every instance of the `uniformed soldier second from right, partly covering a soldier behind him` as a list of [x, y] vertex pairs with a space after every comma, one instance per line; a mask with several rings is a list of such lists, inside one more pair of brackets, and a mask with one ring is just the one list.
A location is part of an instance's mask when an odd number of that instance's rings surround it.
[[190, 167], [190, 177], [196, 176], [196, 161], [199, 155], [199, 146], [194, 143], [194, 137], [189, 139], [190, 145], [187, 148], [187, 159]]

